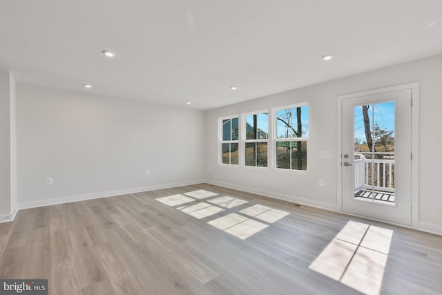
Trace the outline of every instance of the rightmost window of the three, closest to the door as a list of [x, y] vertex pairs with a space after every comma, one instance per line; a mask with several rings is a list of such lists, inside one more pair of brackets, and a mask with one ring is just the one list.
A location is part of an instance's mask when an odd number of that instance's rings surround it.
[[307, 170], [309, 106], [300, 104], [275, 112], [276, 168]]

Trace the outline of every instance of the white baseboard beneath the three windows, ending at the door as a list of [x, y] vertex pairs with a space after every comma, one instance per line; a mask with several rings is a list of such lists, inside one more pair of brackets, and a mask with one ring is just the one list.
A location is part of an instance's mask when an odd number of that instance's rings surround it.
[[326, 209], [326, 210], [334, 211], [334, 212], [337, 211], [336, 204], [318, 202], [318, 201], [309, 200], [309, 199], [305, 199], [305, 198], [298, 198], [296, 196], [284, 195], [282, 193], [273, 193], [271, 191], [264, 191], [262, 189], [253, 189], [251, 187], [242, 187], [240, 185], [219, 182], [216, 180], [206, 180], [206, 183], [219, 185], [220, 187], [227, 187], [229, 189], [238, 189], [238, 191], [246, 191], [247, 193], [256, 193], [261, 196], [275, 198], [278, 200], [285, 200], [288, 202], [294, 202], [296, 204], [304, 204], [304, 205], [307, 205], [310, 207], [316, 207], [319, 209]]

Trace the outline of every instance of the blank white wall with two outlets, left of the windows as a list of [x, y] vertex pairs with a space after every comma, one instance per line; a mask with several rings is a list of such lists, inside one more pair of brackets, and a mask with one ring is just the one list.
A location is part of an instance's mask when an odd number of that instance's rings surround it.
[[202, 111], [17, 84], [20, 208], [202, 182], [204, 157]]

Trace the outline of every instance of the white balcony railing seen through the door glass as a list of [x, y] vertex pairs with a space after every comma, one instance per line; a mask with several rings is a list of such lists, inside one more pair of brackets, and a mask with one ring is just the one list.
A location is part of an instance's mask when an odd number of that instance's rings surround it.
[[354, 160], [354, 189], [368, 188], [394, 193], [394, 160], [366, 159], [365, 155]]

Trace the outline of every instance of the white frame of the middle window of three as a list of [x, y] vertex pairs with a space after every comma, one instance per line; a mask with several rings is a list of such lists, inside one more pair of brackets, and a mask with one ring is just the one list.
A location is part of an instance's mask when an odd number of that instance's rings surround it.
[[[252, 140], [247, 140], [247, 116], [249, 115], [259, 115], [262, 113], [267, 113], [267, 129], [268, 129], [268, 133], [267, 133], [267, 139], [262, 139], [262, 140], [258, 140], [258, 139], [252, 139]], [[270, 158], [271, 158], [271, 151], [270, 151], [270, 138], [271, 138], [271, 113], [269, 113], [269, 110], [261, 110], [261, 111], [253, 111], [253, 112], [248, 112], [248, 113], [242, 113], [241, 114], [241, 149], [240, 152], [241, 153], [245, 153], [246, 152], [246, 145], [248, 143], [258, 143], [258, 142], [265, 142], [267, 143], [267, 166], [258, 166], [258, 160], [257, 158], [255, 158], [255, 166], [249, 166], [246, 164], [246, 156], [242, 155], [242, 166], [246, 167], [246, 168], [250, 168], [250, 169], [269, 169], [270, 167]]]

